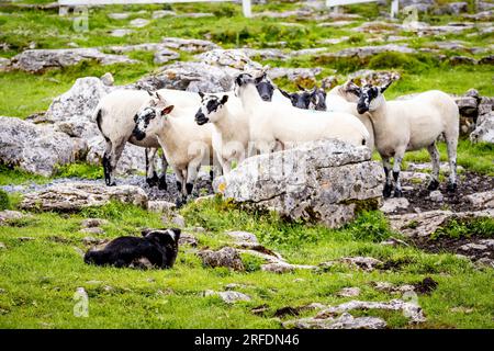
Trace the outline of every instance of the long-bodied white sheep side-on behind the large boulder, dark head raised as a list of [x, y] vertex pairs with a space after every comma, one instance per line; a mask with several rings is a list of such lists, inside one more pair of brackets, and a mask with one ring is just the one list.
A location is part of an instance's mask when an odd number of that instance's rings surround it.
[[262, 101], [255, 79], [240, 73], [235, 80], [235, 94], [249, 115], [250, 141], [257, 150], [272, 151], [292, 143], [339, 138], [356, 146], [367, 145], [369, 133], [360, 121], [346, 113], [305, 111], [285, 104]]

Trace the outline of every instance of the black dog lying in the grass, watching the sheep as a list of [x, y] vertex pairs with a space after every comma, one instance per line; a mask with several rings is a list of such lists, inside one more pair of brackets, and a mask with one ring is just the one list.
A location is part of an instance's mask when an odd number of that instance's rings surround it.
[[180, 229], [146, 229], [142, 235], [113, 239], [101, 250], [90, 249], [85, 254], [85, 262], [117, 268], [172, 268], [177, 259]]

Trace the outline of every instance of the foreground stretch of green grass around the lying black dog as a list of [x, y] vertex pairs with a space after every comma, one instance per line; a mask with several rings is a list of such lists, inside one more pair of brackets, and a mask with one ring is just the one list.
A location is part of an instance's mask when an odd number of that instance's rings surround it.
[[[212, 211], [218, 208], [221, 211]], [[246, 258], [247, 272], [203, 268], [187, 247], [179, 252], [172, 270], [138, 271], [96, 268], [82, 262], [74, 247], [86, 249], [78, 233], [85, 217], [109, 219], [104, 237], [139, 235], [139, 227], [161, 226], [159, 215], [138, 207], [110, 204], [80, 214], [59, 216], [35, 214], [33, 218], [0, 227], [0, 241], [7, 250], [0, 253], [2, 280], [0, 288], [0, 328], [280, 328], [273, 313], [284, 306], [302, 306], [318, 302], [336, 305], [348, 301], [337, 293], [346, 286], [359, 286], [361, 299], [389, 301], [400, 297], [371, 287], [371, 282], [396, 284], [416, 283], [431, 276], [439, 285], [430, 295], [420, 295], [428, 321], [424, 328], [493, 328], [494, 305], [490, 282], [493, 270], [474, 270], [467, 261], [452, 254], [427, 254], [414, 248], [389, 248], [373, 238], [356, 238], [352, 229], [329, 230], [300, 225], [297, 231], [312, 231], [308, 239], [294, 238], [294, 227], [281, 224], [269, 214], [245, 213], [221, 203], [217, 199], [201, 205], [189, 205], [182, 214], [189, 225], [212, 223], [205, 233], [197, 234], [200, 246], [228, 245], [223, 231], [249, 228], [271, 249], [289, 261], [317, 264], [343, 256], [372, 256], [383, 261], [402, 262], [397, 270], [361, 272], [336, 265], [326, 272], [296, 271], [273, 274], [259, 270], [261, 262]], [[379, 216], [378, 216], [379, 217]], [[225, 219], [226, 218], [226, 219]], [[249, 219], [259, 223], [250, 227]], [[383, 218], [375, 219], [378, 222]], [[385, 224], [381, 224], [385, 226]], [[269, 235], [267, 235], [269, 233]], [[18, 238], [29, 236], [31, 241]], [[290, 245], [288, 244], [290, 242]], [[205, 290], [223, 291], [226, 284], [246, 285], [238, 288], [249, 296], [249, 303], [227, 305], [217, 297], [203, 297]], [[89, 295], [89, 317], [74, 316], [72, 299], [77, 287]], [[250, 309], [267, 305], [265, 315]], [[471, 308], [469, 314], [456, 313], [454, 307]], [[451, 310], [453, 309], [453, 310]], [[368, 312], [381, 316], [392, 328], [408, 328], [401, 314]], [[302, 316], [312, 316], [307, 312]], [[282, 320], [290, 319], [282, 317]]]

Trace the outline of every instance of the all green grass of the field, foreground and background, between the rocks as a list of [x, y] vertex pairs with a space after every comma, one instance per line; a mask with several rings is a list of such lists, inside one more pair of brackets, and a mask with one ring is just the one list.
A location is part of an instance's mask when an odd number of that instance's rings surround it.
[[[29, 0], [24, 3], [47, 3], [52, 0]], [[447, 1], [441, 1], [447, 2]], [[290, 2], [271, 2], [255, 5], [254, 11], [291, 10]], [[215, 18], [188, 19], [166, 18], [151, 20], [143, 29], [126, 37], [112, 37], [111, 30], [128, 27], [135, 18], [150, 18], [153, 10], [172, 9], [178, 13], [213, 12]], [[123, 21], [110, 20], [111, 12], [146, 10], [146, 14], [133, 14]], [[9, 5], [0, 5], [0, 43], [9, 48], [0, 50], [0, 57], [11, 58], [27, 49], [31, 43], [37, 48], [68, 47], [76, 43], [79, 47], [104, 47], [109, 45], [159, 42], [165, 36], [207, 38], [225, 48], [249, 46], [271, 47], [278, 41], [287, 42], [287, 49], [319, 47], [317, 41], [349, 36], [350, 39], [327, 47], [336, 52], [346, 47], [367, 45], [367, 39], [375, 34], [356, 34], [352, 27], [374, 20], [379, 14], [375, 3], [352, 5], [349, 10], [363, 18], [356, 23], [339, 27], [321, 27], [312, 20], [255, 18], [244, 19], [236, 4], [172, 4], [148, 7], [104, 7], [90, 10], [89, 31], [74, 31], [70, 18], [60, 18], [55, 11], [34, 11]], [[427, 15], [424, 20], [434, 24], [463, 21], [457, 16]], [[297, 23], [288, 26], [282, 22]], [[430, 42], [465, 41], [468, 47], [487, 47], [494, 43], [492, 34], [478, 35], [476, 30], [462, 34], [431, 37], [411, 37], [411, 47], [422, 47]], [[469, 36], [473, 35], [473, 36]], [[104, 49], [103, 49], [104, 50]], [[447, 56], [457, 54], [478, 57], [465, 53], [445, 52]], [[87, 76], [102, 76], [110, 71], [116, 84], [134, 82], [158, 68], [149, 53], [135, 52], [130, 57], [139, 59], [136, 65], [112, 65], [101, 67], [94, 63], [81, 63], [65, 69], [53, 69], [40, 75], [21, 71], [0, 75], [0, 115], [25, 118], [32, 113], [45, 111], [52, 99], [67, 91], [75, 79]], [[181, 59], [192, 59], [181, 53]], [[461, 94], [475, 88], [483, 95], [494, 95], [494, 69], [489, 65], [449, 66], [437, 60], [435, 55], [379, 55], [371, 63], [356, 60], [325, 61], [319, 55], [302, 56], [285, 61], [267, 60], [273, 67], [322, 67], [317, 77], [336, 75], [344, 81], [348, 73], [362, 68], [393, 69], [402, 78], [386, 91], [393, 99], [405, 93], [428, 89], [441, 89]], [[287, 80], [277, 81], [281, 87], [294, 89]], [[439, 145], [441, 159], [446, 160], [446, 149]], [[468, 170], [494, 176], [494, 149], [490, 144], [472, 145], [461, 140], [458, 165]], [[427, 152], [406, 155], [405, 162], [429, 161]], [[76, 163], [59, 169], [55, 178], [102, 177], [100, 167]], [[0, 166], [0, 185], [45, 183], [50, 179], [29, 174], [18, 169]], [[1, 194], [0, 194], [1, 195]], [[8, 207], [15, 210], [19, 194], [10, 195]], [[7, 206], [5, 206], [7, 207]], [[0, 205], [2, 210], [2, 205]], [[430, 254], [411, 247], [386, 247], [379, 242], [392, 233], [385, 217], [379, 212], [363, 213], [341, 229], [285, 223], [274, 214], [245, 212], [217, 199], [201, 204], [189, 204], [180, 213], [188, 229], [199, 239], [199, 247], [217, 249], [231, 245], [226, 230], [248, 230], [256, 234], [266, 247], [280, 252], [289, 262], [319, 264], [347, 256], [369, 256], [382, 260], [391, 270], [362, 272], [346, 265], [334, 265], [327, 271], [304, 271], [273, 274], [260, 270], [260, 262], [248, 256], [243, 260], [247, 268], [244, 273], [226, 269], [210, 269], [201, 264], [192, 248], [180, 248], [177, 263], [168, 271], [138, 271], [131, 269], [96, 268], [82, 262], [78, 249], [87, 234], [79, 233], [83, 218], [101, 217], [109, 220], [103, 226], [105, 234], [100, 238], [122, 235], [138, 235], [143, 227], [161, 227], [158, 214], [133, 206], [112, 203], [100, 208], [89, 208], [81, 213], [57, 214], [35, 213], [32, 217], [10, 222], [0, 226], [0, 328], [280, 328], [281, 319], [274, 317], [281, 307], [297, 307], [311, 303], [336, 305], [351, 298], [339, 297], [343, 287], [358, 286], [362, 301], [390, 301], [400, 298], [397, 294], [386, 294], [372, 287], [373, 282], [413, 284], [430, 276], [438, 287], [429, 295], [419, 295], [418, 303], [424, 308], [427, 321], [420, 326], [408, 325], [401, 313], [368, 312], [383, 317], [391, 328], [494, 328], [493, 269], [478, 269], [470, 261], [451, 253]], [[482, 225], [493, 228], [494, 220]], [[194, 231], [194, 227], [205, 231]], [[472, 229], [472, 227], [469, 227]], [[440, 237], [464, 233], [464, 228], [446, 228]], [[492, 236], [485, 231], [485, 236]], [[22, 238], [32, 238], [25, 240]], [[437, 235], [439, 237], [439, 235]], [[204, 297], [206, 290], [224, 291], [229, 283], [244, 284], [238, 291], [252, 297], [251, 302], [228, 305], [218, 297]], [[83, 287], [89, 295], [89, 317], [74, 316], [74, 294]], [[263, 315], [255, 315], [251, 309], [266, 305]], [[301, 316], [313, 316], [314, 312]]]

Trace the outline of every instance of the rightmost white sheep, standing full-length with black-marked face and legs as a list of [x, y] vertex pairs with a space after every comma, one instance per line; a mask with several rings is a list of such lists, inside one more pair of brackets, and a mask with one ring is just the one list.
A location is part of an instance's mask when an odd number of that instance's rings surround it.
[[374, 126], [375, 146], [382, 158], [386, 177], [383, 195], [390, 197], [392, 192], [391, 162], [394, 158], [393, 179], [394, 196], [402, 196], [400, 169], [405, 151], [418, 150], [424, 147], [433, 162], [429, 190], [439, 186], [439, 151], [436, 140], [445, 136], [449, 159], [448, 191], [457, 189], [457, 146], [459, 135], [459, 110], [454, 100], [439, 90], [430, 90], [417, 94], [409, 100], [386, 101], [383, 92], [391, 82], [381, 86], [364, 86], [353, 89], [359, 97], [357, 111], [368, 112]]

